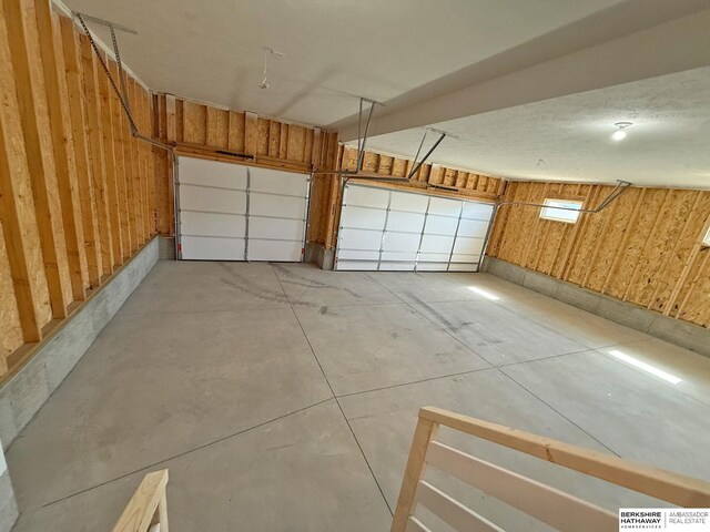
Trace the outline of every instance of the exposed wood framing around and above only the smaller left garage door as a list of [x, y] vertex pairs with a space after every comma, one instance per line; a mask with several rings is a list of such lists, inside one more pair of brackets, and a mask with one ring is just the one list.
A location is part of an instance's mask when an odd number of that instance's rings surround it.
[[[153, 137], [175, 146], [176, 154], [295, 172], [335, 170], [337, 133], [305, 127], [191, 102], [172, 94], [153, 95]], [[174, 233], [172, 161], [153, 150], [155, 178], [151, 197], [158, 205], [159, 233]], [[311, 185], [310, 239], [325, 242], [327, 217], [321, 200], [331, 193], [328, 174], [317, 174]]]

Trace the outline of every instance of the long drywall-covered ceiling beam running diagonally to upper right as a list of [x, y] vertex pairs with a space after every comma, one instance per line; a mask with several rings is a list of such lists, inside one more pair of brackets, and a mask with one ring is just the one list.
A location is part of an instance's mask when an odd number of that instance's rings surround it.
[[[645, 7], [652, 8], [651, 1], [643, 0], [648, 2]], [[635, 10], [628, 7], [637, 3], [622, 4], [627, 8], [623, 18], [633, 14]], [[525, 47], [518, 47], [491, 58], [485, 64], [455, 74], [456, 79], [449, 76], [439, 80], [397, 101], [387, 102], [385, 112], [373, 119], [371, 136], [710, 65], [710, 1], [665, 2], [662, 6], [669, 4], [691, 14], [581, 49], [579, 40], [576, 44], [570, 41], [568, 47], [561, 48], [567, 53], [559, 54], [559, 47], [566, 41], [565, 35], [571, 39], [568, 27], [564, 35], [550, 34], [538, 43], [526, 44], [529, 47], [527, 51]], [[706, 9], [698, 11], [702, 7]], [[636, 8], [640, 9], [638, 6]], [[606, 17], [609, 17], [608, 11], [605, 11]], [[636, 14], [642, 19], [639, 13]], [[669, 17], [672, 13], [666, 9], [661, 14]], [[647, 18], [646, 23], [648, 21]], [[623, 21], [617, 20], [612, 24], [612, 33], [619, 33], [620, 22]], [[636, 27], [638, 24], [637, 21]], [[608, 35], [609, 32], [605, 37]], [[592, 41], [589, 32], [584, 31], [580, 39], [585, 43]], [[556, 47], [550, 45], [550, 40]], [[557, 50], [557, 57], [550, 57], [554, 50]], [[540, 57], [549, 59], [535, 62]], [[466, 83], [464, 86], [446, 92], [456, 83], [460, 85], [462, 81]], [[331, 127], [339, 130], [339, 137], [344, 142], [357, 135], [352, 117], [331, 124]]]

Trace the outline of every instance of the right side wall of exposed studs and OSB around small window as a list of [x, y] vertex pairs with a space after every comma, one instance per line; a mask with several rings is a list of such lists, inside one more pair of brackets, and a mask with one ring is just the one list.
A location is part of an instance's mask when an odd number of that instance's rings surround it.
[[[610, 186], [508, 184], [504, 200], [580, 198], [595, 207]], [[651, 310], [710, 327], [710, 191], [630, 187], [576, 224], [539, 208], [500, 207], [488, 255]]]

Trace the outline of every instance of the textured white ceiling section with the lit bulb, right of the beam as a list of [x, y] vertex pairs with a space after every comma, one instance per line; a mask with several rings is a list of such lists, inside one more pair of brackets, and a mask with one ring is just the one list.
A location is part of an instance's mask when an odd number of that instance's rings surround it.
[[[613, 124], [632, 122], [621, 142]], [[625, 83], [434, 124], [433, 161], [524, 180], [710, 188], [710, 68]], [[368, 147], [414, 156], [422, 129], [372, 137]], [[428, 134], [427, 146], [437, 139]]]

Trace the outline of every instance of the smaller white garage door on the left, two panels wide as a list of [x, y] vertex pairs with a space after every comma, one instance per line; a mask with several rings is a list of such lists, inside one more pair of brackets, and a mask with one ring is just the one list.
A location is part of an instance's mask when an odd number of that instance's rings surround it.
[[303, 260], [310, 183], [306, 174], [179, 157], [179, 258]]

